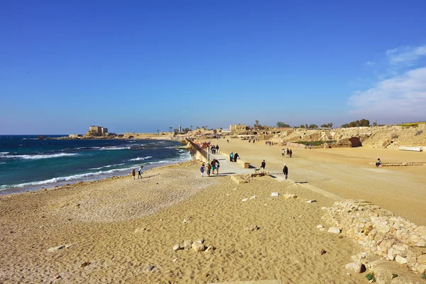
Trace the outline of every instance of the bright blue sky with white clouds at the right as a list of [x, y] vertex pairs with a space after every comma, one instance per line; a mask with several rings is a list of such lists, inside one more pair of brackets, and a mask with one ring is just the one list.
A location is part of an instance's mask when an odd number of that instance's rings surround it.
[[426, 120], [426, 1], [0, 4], [0, 134]]

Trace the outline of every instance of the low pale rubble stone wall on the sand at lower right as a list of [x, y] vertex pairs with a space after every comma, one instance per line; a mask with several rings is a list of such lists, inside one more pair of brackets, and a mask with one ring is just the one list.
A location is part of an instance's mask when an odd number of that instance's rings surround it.
[[364, 200], [334, 202], [323, 219], [346, 232], [366, 252], [425, 273], [426, 226], [395, 217]]

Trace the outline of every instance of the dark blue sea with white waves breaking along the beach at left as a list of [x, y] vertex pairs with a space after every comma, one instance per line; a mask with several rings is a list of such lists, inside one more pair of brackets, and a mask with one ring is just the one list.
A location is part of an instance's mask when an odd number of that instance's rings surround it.
[[[45, 136], [55, 138], [59, 136]], [[0, 195], [129, 175], [190, 160], [179, 141], [0, 136]]]

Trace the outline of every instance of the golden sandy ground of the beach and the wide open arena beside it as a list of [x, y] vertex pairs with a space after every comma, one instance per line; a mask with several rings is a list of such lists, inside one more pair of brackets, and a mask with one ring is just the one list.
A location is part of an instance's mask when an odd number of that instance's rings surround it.
[[[363, 274], [344, 269], [360, 247], [344, 234], [317, 229], [327, 227], [321, 208], [334, 199], [291, 180], [425, 222], [424, 168], [368, 165], [378, 153], [393, 161], [426, 160], [424, 153], [293, 150], [293, 158], [281, 158], [279, 146], [217, 143], [252, 163], [265, 157], [271, 175], [280, 173], [285, 160], [290, 181], [265, 176], [238, 185], [227, 174], [202, 178], [200, 162], [192, 160], [148, 170], [139, 180], [111, 178], [1, 196], [0, 282], [366, 283]], [[297, 198], [287, 200], [285, 193]], [[200, 239], [212, 248], [173, 250]]]

